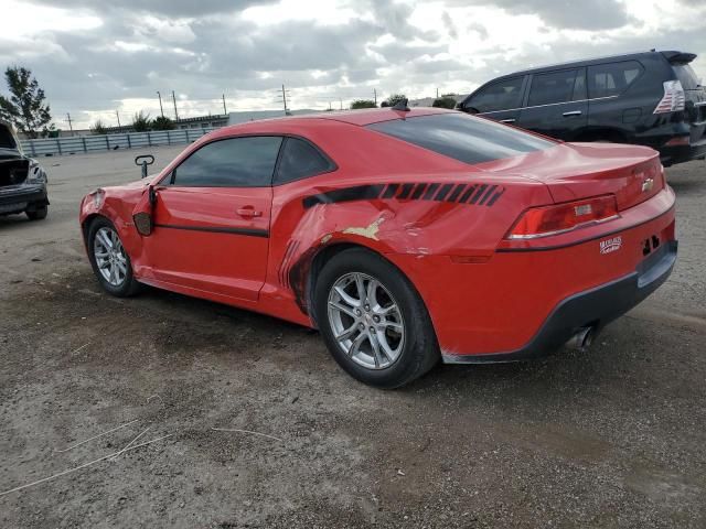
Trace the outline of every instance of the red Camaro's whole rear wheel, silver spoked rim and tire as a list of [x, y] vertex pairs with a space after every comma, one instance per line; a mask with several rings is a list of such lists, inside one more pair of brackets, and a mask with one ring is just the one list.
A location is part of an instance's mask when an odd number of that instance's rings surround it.
[[439, 359], [431, 320], [414, 285], [363, 249], [334, 256], [314, 287], [314, 309], [336, 363], [362, 382], [396, 388]]

